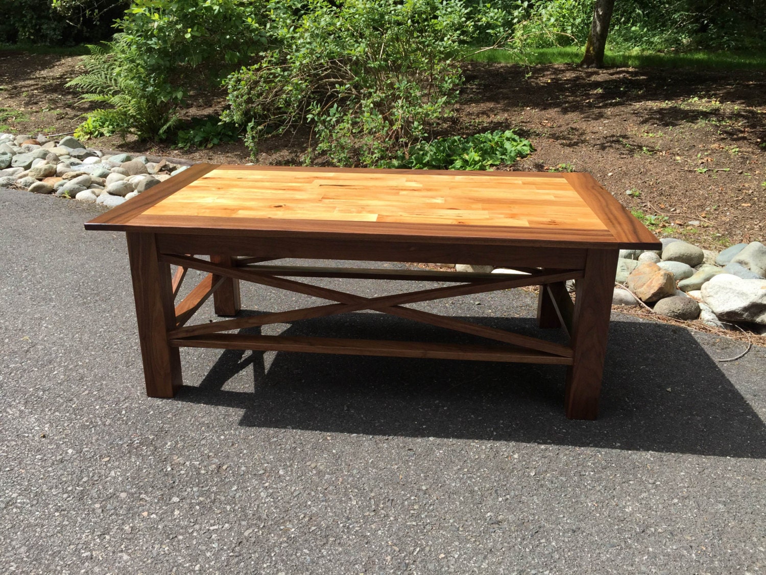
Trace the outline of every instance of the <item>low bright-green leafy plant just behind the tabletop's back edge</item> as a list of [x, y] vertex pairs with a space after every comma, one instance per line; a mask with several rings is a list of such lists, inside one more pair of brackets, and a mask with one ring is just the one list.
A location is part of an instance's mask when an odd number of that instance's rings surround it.
[[519, 157], [532, 153], [532, 143], [512, 130], [486, 132], [464, 138], [451, 136], [411, 146], [408, 156], [400, 154], [390, 164], [397, 168], [414, 169], [493, 169], [500, 164], [512, 164]]

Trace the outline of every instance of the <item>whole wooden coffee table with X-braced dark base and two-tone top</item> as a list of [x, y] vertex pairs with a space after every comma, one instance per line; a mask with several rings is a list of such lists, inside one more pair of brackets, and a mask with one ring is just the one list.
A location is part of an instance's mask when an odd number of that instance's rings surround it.
[[[89, 230], [126, 232], [146, 393], [182, 385], [179, 347], [554, 363], [568, 366], [565, 410], [597, 415], [617, 254], [660, 242], [586, 173], [447, 172], [198, 164], [110, 212]], [[199, 256], [210, 256], [209, 261]], [[464, 262], [513, 268], [477, 274], [264, 265], [280, 258]], [[171, 265], [178, 268], [172, 274]], [[175, 304], [186, 270], [208, 275]], [[433, 289], [361, 297], [290, 278], [440, 281]], [[565, 281], [576, 280], [573, 303]], [[236, 316], [239, 281], [332, 303], [186, 325], [211, 295]], [[540, 285], [540, 327], [569, 345], [404, 307]], [[375, 310], [492, 340], [485, 345], [226, 333]]]

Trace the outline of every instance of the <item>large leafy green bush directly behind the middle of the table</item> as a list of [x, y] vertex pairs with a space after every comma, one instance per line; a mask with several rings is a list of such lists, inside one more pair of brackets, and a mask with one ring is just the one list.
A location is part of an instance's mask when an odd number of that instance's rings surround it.
[[[297, 15], [296, 15], [297, 14]], [[274, 48], [227, 81], [224, 119], [260, 137], [313, 126], [313, 154], [375, 166], [449, 114], [473, 36], [470, 8], [439, 0], [309, 0], [274, 10]]]

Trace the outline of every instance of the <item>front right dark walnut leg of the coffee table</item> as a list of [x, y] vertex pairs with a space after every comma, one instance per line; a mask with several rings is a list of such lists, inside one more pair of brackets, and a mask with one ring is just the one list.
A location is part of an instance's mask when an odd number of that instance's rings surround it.
[[569, 419], [596, 419], [598, 413], [618, 254], [616, 249], [588, 250], [584, 278], [576, 282], [574, 363], [567, 370], [564, 399]]

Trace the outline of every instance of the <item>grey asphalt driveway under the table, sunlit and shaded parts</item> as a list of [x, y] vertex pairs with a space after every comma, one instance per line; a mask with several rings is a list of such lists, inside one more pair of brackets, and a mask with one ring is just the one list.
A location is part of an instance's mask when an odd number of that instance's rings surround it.
[[[741, 344], [615, 314], [595, 422], [565, 419], [561, 367], [502, 363], [182, 350], [185, 388], [149, 399], [99, 212], [0, 190], [0, 573], [766, 569], [766, 350], [717, 363]], [[535, 332], [522, 290], [425, 305]]]

